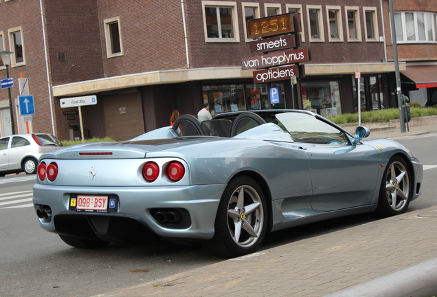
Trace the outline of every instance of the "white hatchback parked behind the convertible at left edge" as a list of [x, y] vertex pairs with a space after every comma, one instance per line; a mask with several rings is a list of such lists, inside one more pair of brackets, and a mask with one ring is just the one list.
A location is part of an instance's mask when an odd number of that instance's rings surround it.
[[36, 173], [38, 160], [49, 151], [63, 146], [56, 137], [45, 133], [15, 134], [0, 138], [0, 177], [9, 173]]

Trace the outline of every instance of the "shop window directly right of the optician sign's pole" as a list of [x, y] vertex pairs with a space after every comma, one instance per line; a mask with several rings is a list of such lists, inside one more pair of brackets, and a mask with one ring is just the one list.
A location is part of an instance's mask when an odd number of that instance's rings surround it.
[[324, 117], [341, 114], [339, 83], [337, 81], [301, 83], [302, 106]]

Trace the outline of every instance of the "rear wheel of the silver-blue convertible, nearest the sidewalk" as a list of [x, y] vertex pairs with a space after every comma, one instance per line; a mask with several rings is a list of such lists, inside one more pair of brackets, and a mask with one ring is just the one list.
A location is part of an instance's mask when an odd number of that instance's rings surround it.
[[202, 245], [216, 256], [233, 258], [258, 250], [267, 230], [267, 204], [254, 179], [237, 177], [229, 182], [214, 229], [214, 237]]

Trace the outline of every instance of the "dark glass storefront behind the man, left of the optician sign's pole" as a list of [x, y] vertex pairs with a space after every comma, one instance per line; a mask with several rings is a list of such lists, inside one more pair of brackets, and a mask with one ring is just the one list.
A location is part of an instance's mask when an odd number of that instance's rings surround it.
[[[278, 87], [279, 102], [271, 103], [269, 87]], [[283, 83], [205, 85], [203, 103], [210, 104], [212, 116], [229, 111], [249, 111], [258, 109], [285, 109]]]

